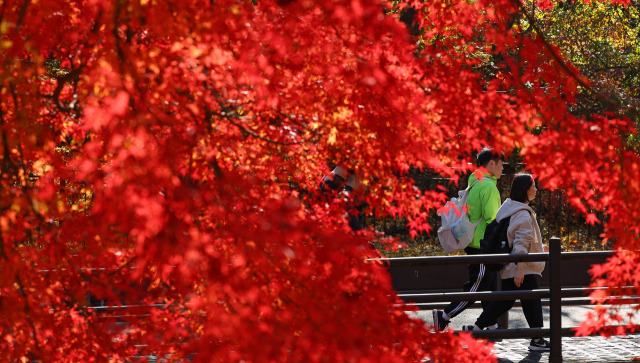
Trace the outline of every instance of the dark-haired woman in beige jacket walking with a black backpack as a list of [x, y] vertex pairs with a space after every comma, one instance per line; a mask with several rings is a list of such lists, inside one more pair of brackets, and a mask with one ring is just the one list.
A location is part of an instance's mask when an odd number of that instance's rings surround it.
[[[536, 214], [529, 206], [536, 197], [536, 184], [529, 174], [519, 174], [513, 179], [509, 198], [504, 201], [496, 220], [511, 217], [507, 229], [507, 241], [513, 247], [512, 255], [548, 251], [549, 248], [542, 244], [540, 227], [536, 221]], [[519, 262], [505, 265], [500, 270], [502, 290], [533, 290], [538, 288], [540, 274], [544, 270], [544, 262]], [[539, 298], [520, 299], [522, 310], [530, 328], [542, 328], [542, 303]], [[491, 301], [483, 309], [482, 314], [476, 320], [475, 325], [465, 325], [462, 330], [481, 330], [493, 324], [502, 314], [513, 307], [515, 299], [503, 301]], [[532, 338], [529, 344], [530, 350], [550, 350], [549, 343], [543, 338]]]

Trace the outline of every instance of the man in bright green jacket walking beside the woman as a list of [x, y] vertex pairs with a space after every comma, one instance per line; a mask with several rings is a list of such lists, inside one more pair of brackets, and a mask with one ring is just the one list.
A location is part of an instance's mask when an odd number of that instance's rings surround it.
[[[482, 221], [476, 227], [473, 240], [464, 249], [468, 255], [480, 254], [480, 240], [484, 237], [487, 225], [496, 218], [496, 213], [500, 208], [500, 191], [498, 191], [496, 183], [502, 176], [503, 158], [502, 153], [497, 153], [489, 148], [482, 149], [477, 157], [478, 169], [469, 177], [468, 185], [471, 185], [476, 179], [480, 179], [469, 192], [469, 200], [467, 201], [469, 222], [475, 223], [480, 218]], [[487, 271], [484, 264], [470, 264], [469, 281], [464, 284], [463, 291], [493, 291], [496, 289], [496, 279], [496, 272]], [[460, 314], [474, 302], [473, 300], [452, 302], [444, 311], [433, 310], [434, 325], [438, 330], [444, 330], [454, 316]], [[487, 304], [488, 302], [482, 301], [482, 308], [484, 309]], [[496, 323], [488, 328], [495, 329], [497, 326]]]

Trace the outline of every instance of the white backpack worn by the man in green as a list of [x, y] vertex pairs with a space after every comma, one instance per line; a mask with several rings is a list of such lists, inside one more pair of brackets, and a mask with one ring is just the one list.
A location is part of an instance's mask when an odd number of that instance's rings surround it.
[[438, 210], [438, 215], [442, 219], [442, 227], [438, 229], [438, 240], [440, 240], [445, 252], [462, 251], [473, 241], [476, 227], [483, 218], [480, 218], [476, 223], [469, 222], [469, 216], [464, 211], [464, 206], [467, 205], [471, 188], [478, 181], [484, 179], [486, 178], [476, 179], [467, 189], [459, 191], [457, 198], [451, 198], [444, 207]]

